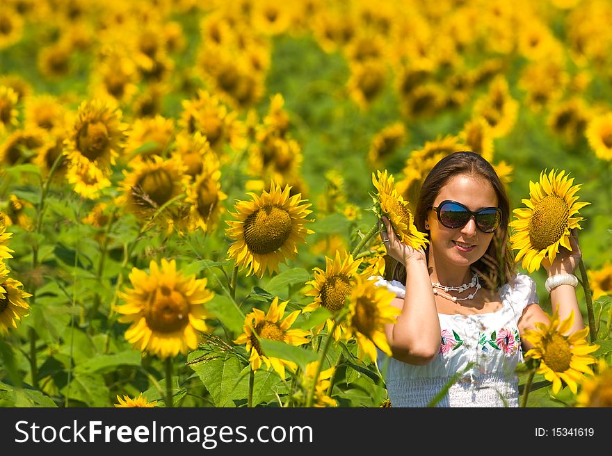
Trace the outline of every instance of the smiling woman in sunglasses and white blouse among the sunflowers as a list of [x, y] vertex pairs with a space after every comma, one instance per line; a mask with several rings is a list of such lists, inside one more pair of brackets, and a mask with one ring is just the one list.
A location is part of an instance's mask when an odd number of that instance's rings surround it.
[[[509, 219], [503, 184], [473, 152], [442, 158], [421, 187], [414, 223], [428, 233], [425, 250], [398, 241], [383, 217], [381, 237], [398, 263], [377, 284], [396, 292], [401, 309], [386, 327], [393, 357], [378, 357], [392, 407], [425, 407], [453, 376], [438, 407], [518, 407], [515, 368], [530, 348], [521, 335], [549, 318], [533, 279], [513, 272]], [[573, 311], [574, 332], [584, 327], [574, 289], [581, 258], [575, 230], [570, 242], [571, 251], [562, 248], [542, 265], [553, 311], [562, 319]]]

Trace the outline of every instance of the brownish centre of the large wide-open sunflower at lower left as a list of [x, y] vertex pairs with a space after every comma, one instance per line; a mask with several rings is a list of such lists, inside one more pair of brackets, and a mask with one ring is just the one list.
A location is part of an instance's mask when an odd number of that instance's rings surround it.
[[163, 285], [151, 293], [145, 320], [156, 332], [179, 331], [189, 323], [189, 302], [183, 293]]

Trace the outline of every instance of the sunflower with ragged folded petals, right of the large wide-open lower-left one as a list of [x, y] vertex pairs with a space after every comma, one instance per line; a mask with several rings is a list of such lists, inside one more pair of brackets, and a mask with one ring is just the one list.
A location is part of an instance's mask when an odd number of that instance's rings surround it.
[[274, 298], [267, 314], [255, 308], [245, 317], [244, 332], [238, 336], [234, 343], [239, 345], [246, 343], [246, 351], [249, 352], [249, 361], [253, 371], [257, 371], [263, 362], [266, 364], [266, 370], [269, 371], [272, 367], [284, 379], [284, 366], [292, 370], [297, 368], [292, 361], [266, 356], [259, 344], [259, 339], [279, 341], [289, 345], [302, 345], [308, 342], [309, 332], [303, 329], [290, 329], [293, 322], [298, 318], [300, 311], [293, 311], [284, 317], [285, 307], [288, 303], [289, 301], [285, 301], [279, 304], [278, 298]]

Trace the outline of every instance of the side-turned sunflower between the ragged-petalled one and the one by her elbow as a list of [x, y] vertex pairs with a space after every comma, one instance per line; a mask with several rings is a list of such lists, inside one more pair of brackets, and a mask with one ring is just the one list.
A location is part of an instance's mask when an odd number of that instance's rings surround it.
[[[346, 298], [351, 294], [353, 289], [353, 277], [357, 273], [362, 260], [355, 260], [351, 254], [346, 251], [341, 255], [336, 250], [334, 259], [325, 257], [325, 271], [321, 268], [314, 268], [314, 280], [306, 282], [306, 285], [312, 288], [306, 291], [306, 296], [312, 296], [314, 301], [305, 306], [302, 311], [314, 311], [318, 307], [325, 307], [332, 316], [335, 316], [339, 311], [344, 309]], [[334, 327], [334, 319], [328, 318], [326, 321], [328, 331]], [[323, 329], [323, 324], [316, 327], [318, 333]], [[341, 323], [336, 326], [334, 331], [334, 339], [339, 341], [346, 328]]]

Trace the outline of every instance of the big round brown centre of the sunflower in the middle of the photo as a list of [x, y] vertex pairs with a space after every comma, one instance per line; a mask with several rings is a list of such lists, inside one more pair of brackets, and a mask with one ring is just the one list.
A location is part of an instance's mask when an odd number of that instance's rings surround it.
[[291, 234], [291, 215], [273, 204], [257, 209], [244, 221], [244, 241], [252, 253], [278, 250]]

